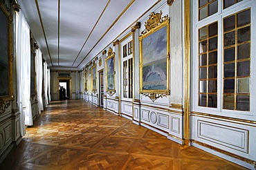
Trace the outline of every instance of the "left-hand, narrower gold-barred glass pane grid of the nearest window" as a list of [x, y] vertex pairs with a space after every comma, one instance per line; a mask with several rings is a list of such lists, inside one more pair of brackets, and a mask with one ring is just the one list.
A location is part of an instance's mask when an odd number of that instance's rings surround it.
[[218, 23], [199, 28], [199, 106], [217, 108]]

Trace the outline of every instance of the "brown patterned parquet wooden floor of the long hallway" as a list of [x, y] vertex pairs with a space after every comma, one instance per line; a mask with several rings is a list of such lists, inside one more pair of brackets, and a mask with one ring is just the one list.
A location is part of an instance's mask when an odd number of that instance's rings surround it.
[[51, 102], [0, 169], [245, 169], [82, 100]]

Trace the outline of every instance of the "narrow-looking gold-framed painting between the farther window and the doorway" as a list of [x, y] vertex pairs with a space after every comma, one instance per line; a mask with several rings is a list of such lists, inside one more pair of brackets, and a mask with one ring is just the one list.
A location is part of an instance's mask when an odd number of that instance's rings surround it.
[[106, 84], [107, 93], [113, 95], [116, 93], [115, 90], [115, 53], [113, 53], [112, 48], [109, 48], [108, 55], [106, 58]]

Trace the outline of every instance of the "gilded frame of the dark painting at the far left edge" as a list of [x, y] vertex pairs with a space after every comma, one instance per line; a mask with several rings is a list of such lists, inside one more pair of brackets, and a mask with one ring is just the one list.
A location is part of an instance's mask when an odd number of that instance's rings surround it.
[[12, 90], [12, 61], [13, 61], [13, 55], [12, 55], [12, 15], [9, 14], [8, 10], [5, 7], [5, 4], [3, 2], [0, 2], [0, 9], [3, 12], [3, 14], [6, 16], [8, 20], [8, 95], [0, 96], [0, 101], [6, 102], [10, 100], [14, 100], [14, 94]]

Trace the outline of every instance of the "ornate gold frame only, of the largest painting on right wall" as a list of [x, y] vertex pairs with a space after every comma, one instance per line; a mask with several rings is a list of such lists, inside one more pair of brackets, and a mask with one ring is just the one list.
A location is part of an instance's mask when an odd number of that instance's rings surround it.
[[[149, 20], [145, 24], [146, 30], [142, 32], [143, 35], [140, 35], [139, 41], [140, 41], [140, 94], [143, 94], [147, 97], [149, 97], [152, 102], [154, 102], [159, 97], [163, 97], [166, 95], [170, 95], [170, 18], [168, 17], [159, 17], [162, 13], [152, 14], [149, 16]], [[158, 21], [156, 21], [155, 18], [158, 18]], [[152, 18], [154, 20], [152, 20]], [[154, 23], [154, 26], [149, 25], [149, 23]], [[149, 35], [152, 35], [154, 32], [157, 32], [163, 27], [167, 27], [166, 32], [166, 39], [167, 39], [167, 46], [166, 46], [166, 89], [165, 90], [146, 90], [143, 89], [143, 39], [145, 37], [148, 37]]]

